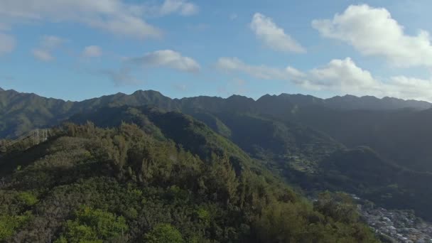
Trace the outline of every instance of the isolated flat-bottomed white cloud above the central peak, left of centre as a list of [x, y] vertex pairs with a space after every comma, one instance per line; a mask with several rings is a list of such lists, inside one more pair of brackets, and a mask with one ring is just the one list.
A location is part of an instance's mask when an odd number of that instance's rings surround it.
[[140, 58], [129, 58], [129, 63], [148, 67], [166, 67], [182, 72], [198, 72], [200, 65], [192, 58], [185, 57], [173, 50], [156, 50]]

